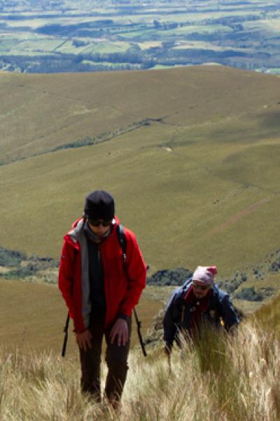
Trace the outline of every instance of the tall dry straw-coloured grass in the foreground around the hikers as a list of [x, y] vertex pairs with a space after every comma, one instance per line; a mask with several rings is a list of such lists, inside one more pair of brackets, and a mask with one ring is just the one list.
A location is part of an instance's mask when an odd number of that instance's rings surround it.
[[[130, 355], [122, 407], [115, 413], [80, 394], [78, 360], [0, 351], [0, 419], [256, 421], [280, 419], [279, 342], [253, 322], [232, 337], [206, 331], [174, 349]], [[106, 370], [102, 368], [104, 379]]]

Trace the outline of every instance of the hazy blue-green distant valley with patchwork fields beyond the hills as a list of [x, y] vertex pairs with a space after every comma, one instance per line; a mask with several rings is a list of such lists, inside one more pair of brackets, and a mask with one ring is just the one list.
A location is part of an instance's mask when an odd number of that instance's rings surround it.
[[228, 65], [280, 73], [279, 1], [0, 2], [0, 70]]

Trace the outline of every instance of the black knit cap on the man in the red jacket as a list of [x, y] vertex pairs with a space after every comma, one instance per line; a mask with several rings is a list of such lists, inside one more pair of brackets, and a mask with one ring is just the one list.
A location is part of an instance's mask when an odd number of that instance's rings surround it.
[[115, 201], [103, 190], [91, 192], [85, 198], [85, 216], [90, 219], [111, 220], [115, 215]]

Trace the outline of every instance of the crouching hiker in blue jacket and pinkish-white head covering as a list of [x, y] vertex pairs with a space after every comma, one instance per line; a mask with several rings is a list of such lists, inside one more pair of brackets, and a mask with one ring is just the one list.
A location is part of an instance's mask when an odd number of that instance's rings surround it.
[[167, 354], [172, 352], [174, 340], [180, 345], [180, 332], [192, 338], [202, 321], [217, 328], [224, 326], [227, 331], [239, 323], [229, 295], [214, 283], [216, 273], [216, 266], [198, 266], [193, 276], [172, 293], [163, 317]]

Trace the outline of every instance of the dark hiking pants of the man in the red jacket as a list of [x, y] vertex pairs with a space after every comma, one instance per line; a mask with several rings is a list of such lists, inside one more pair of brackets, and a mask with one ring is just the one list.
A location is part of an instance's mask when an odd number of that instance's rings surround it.
[[128, 323], [129, 338], [125, 345], [118, 346], [117, 340], [111, 344], [110, 328], [104, 330], [102, 323], [94, 321], [90, 324], [92, 334], [92, 349], [83, 351], [80, 349], [80, 365], [82, 377], [80, 380], [82, 392], [92, 395], [97, 401], [101, 401], [100, 365], [102, 358], [102, 339], [106, 339], [106, 364], [108, 375], [106, 378], [105, 394], [111, 403], [118, 403], [123, 393], [123, 387], [127, 377], [127, 356], [130, 349], [131, 319]]

